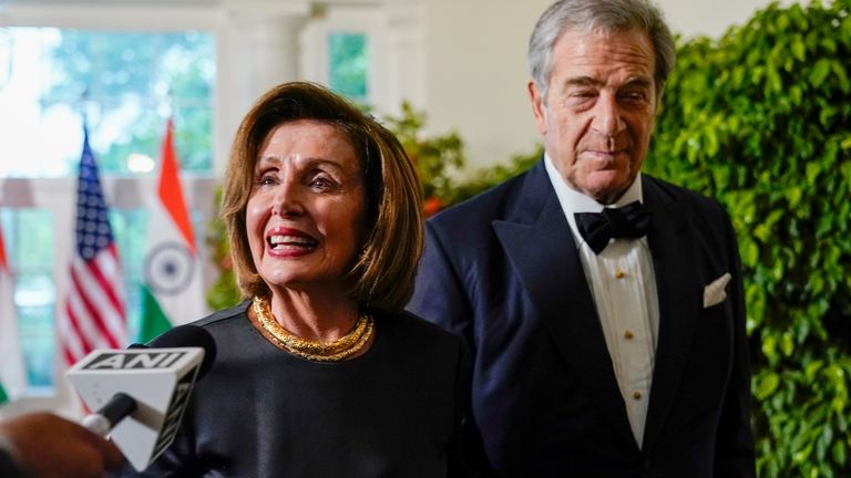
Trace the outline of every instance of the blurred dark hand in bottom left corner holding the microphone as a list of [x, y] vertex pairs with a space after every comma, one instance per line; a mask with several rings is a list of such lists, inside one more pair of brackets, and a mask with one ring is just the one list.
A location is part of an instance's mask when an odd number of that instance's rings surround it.
[[96, 478], [123, 460], [112, 443], [53, 414], [0, 420], [2, 478]]

